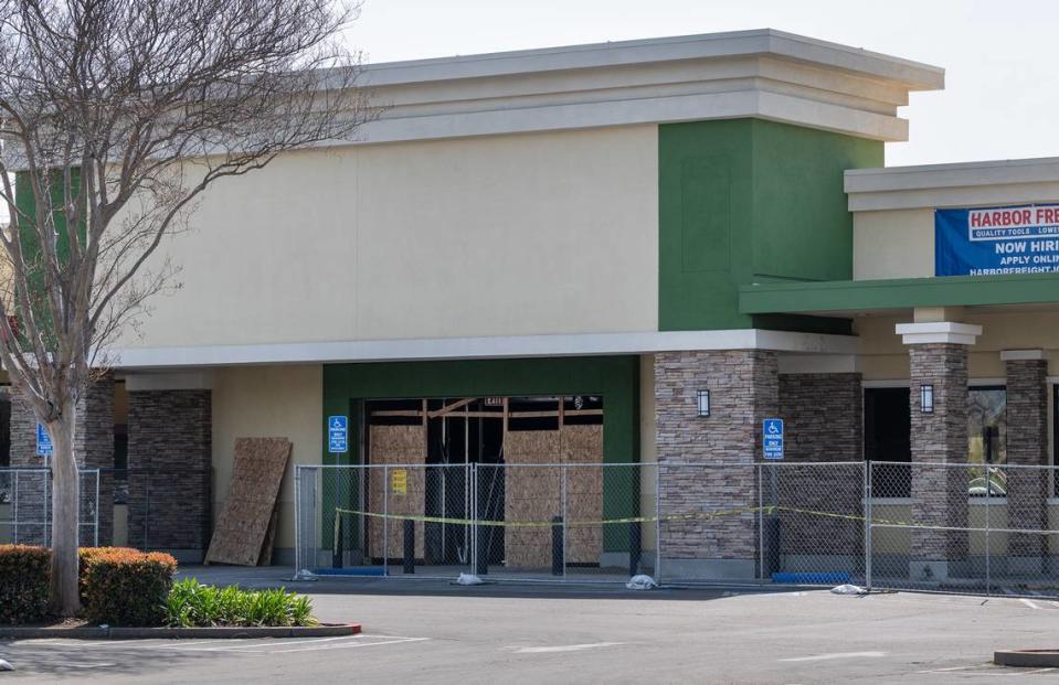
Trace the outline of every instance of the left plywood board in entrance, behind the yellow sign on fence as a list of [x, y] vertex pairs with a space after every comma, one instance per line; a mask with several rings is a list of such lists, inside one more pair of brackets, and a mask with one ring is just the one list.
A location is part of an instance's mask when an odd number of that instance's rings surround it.
[[[372, 426], [369, 434], [368, 502], [371, 512], [422, 516], [426, 504], [426, 427]], [[390, 465], [381, 469], [375, 467]], [[403, 473], [402, 473], [403, 472]], [[386, 537], [383, 536], [384, 531]], [[423, 558], [423, 522], [415, 522], [415, 557]], [[404, 521], [368, 522], [369, 555], [374, 559], [404, 554]]]

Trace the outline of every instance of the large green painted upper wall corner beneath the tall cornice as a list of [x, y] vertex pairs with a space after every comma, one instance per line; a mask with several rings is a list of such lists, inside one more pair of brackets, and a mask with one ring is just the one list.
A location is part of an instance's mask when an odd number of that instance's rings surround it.
[[739, 286], [850, 278], [843, 172], [882, 163], [882, 142], [762, 119], [660, 125], [658, 328], [841, 332], [741, 312]]

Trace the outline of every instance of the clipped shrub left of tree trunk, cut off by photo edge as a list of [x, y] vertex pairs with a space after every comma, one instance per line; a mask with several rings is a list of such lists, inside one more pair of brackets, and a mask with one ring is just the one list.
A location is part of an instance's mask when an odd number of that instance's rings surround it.
[[51, 565], [46, 547], [0, 545], [0, 623], [30, 623], [47, 614]]

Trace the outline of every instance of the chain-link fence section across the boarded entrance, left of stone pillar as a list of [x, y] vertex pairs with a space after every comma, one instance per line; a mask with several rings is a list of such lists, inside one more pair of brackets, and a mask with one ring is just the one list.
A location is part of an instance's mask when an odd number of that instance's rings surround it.
[[296, 566], [624, 581], [656, 524], [645, 479], [653, 464], [299, 465]]

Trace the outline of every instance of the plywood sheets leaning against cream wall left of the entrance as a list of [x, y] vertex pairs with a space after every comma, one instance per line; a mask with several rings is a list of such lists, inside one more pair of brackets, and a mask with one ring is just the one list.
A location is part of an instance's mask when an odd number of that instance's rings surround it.
[[258, 564], [274, 521], [290, 447], [286, 438], [235, 440], [232, 482], [213, 528], [206, 564]]

